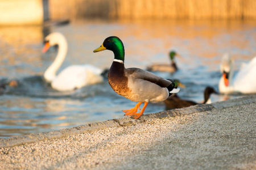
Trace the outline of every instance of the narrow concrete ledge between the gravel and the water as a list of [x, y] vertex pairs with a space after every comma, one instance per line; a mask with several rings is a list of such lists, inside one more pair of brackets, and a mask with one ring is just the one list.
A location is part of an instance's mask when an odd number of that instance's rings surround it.
[[224, 108], [231, 108], [234, 106], [250, 104], [250, 103], [256, 103], [256, 95], [240, 97], [232, 100], [220, 101], [212, 104], [200, 104], [200, 105], [195, 105], [188, 108], [173, 109], [170, 111], [145, 114], [137, 120], [130, 117], [123, 117], [123, 118], [118, 118], [113, 120], [107, 120], [107, 121], [77, 126], [69, 129], [53, 130], [53, 131], [49, 131], [48, 133], [38, 133], [38, 134], [24, 135], [21, 137], [11, 137], [7, 139], [0, 139], [0, 148], [24, 145], [26, 143], [45, 141], [49, 139], [65, 138], [71, 135], [88, 133], [91, 131], [105, 129], [105, 128], [130, 126], [130, 125], [139, 124], [140, 122], [144, 122], [146, 120], [154, 120], [156, 118], [188, 115], [192, 113], [212, 111], [214, 109], [221, 110]]

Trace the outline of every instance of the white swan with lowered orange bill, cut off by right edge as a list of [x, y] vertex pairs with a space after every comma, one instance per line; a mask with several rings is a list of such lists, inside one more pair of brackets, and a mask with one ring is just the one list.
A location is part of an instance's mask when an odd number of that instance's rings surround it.
[[239, 92], [242, 94], [256, 93], [256, 57], [241, 68], [233, 78], [233, 59], [229, 54], [224, 54], [221, 62], [221, 79], [218, 88], [221, 93], [230, 94]]

